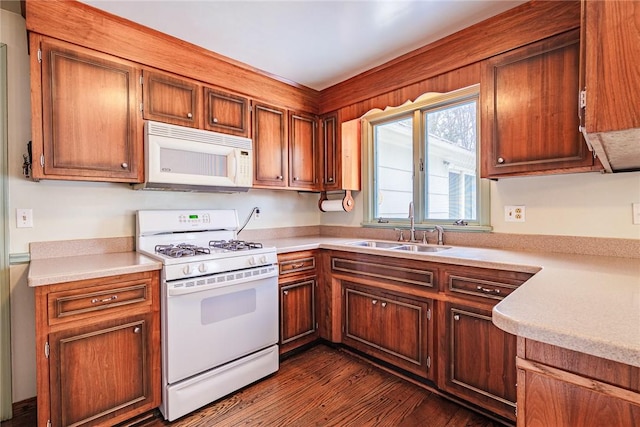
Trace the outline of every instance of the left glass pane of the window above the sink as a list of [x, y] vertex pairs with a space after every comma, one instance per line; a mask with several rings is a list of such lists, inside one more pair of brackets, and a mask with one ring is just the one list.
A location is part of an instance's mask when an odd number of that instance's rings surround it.
[[413, 200], [411, 117], [374, 125], [375, 218], [406, 218]]

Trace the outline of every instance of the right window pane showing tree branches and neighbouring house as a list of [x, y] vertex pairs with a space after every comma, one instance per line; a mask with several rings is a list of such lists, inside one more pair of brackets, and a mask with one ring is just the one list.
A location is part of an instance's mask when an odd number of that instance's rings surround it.
[[425, 113], [427, 219], [477, 219], [476, 111], [474, 100]]

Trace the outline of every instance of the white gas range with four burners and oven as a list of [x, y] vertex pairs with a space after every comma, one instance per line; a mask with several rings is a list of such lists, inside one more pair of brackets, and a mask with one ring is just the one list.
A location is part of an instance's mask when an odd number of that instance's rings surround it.
[[138, 252], [163, 263], [164, 417], [276, 372], [275, 248], [236, 240], [235, 210], [141, 210], [136, 223]]

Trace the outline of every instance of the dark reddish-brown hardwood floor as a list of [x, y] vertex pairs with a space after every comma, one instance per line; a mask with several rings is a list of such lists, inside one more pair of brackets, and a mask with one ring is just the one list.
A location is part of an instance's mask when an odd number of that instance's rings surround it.
[[[14, 418], [3, 422], [2, 427], [31, 427], [32, 423]], [[498, 425], [348, 352], [325, 345], [284, 360], [271, 377], [172, 423], [156, 414], [136, 424], [137, 427]]]

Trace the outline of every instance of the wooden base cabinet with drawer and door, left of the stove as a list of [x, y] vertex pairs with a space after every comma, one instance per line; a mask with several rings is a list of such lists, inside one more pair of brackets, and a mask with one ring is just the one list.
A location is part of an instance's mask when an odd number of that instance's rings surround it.
[[40, 286], [38, 425], [111, 426], [160, 404], [159, 273]]

